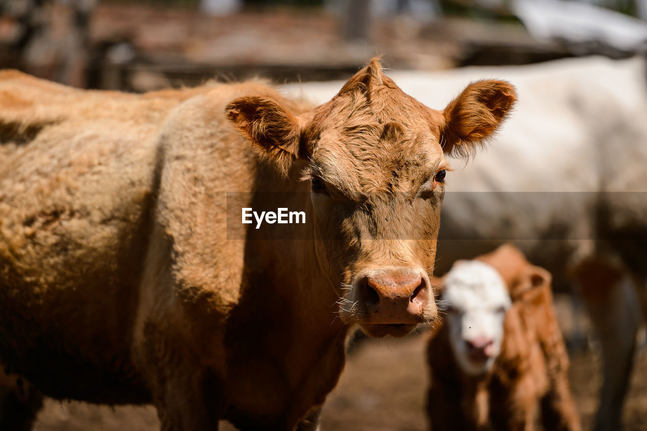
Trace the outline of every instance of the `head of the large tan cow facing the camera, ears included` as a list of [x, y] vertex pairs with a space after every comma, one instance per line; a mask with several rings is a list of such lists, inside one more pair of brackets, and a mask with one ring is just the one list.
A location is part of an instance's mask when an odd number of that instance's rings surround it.
[[374, 337], [403, 336], [437, 315], [429, 277], [444, 156], [472, 153], [515, 97], [507, 82], [481, 81], [435, 111], [374, 59], [313, 111], [245, 96], [226, 115], [261, 157], [310, 184], [316, 258], [340, 296], [340, 318]]

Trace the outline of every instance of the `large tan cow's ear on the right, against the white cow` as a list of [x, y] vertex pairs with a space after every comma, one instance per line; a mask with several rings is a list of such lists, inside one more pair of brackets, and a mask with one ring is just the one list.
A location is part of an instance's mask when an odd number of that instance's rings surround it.
[[471, 83], [444, 109], [443, 151], [466, 157], [492, 137], [516, 102], [514, 85], [485, 80]]

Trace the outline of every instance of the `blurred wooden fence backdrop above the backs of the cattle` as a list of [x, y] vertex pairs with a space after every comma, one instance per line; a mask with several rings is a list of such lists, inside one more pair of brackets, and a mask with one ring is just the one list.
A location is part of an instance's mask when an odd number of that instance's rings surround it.
[[[258, 74], [345, 79], [644, 50], [647, 0], [0, 0], [0, 66], [148, 91]], [[642, 18], [642, 19], [641, 19]]]

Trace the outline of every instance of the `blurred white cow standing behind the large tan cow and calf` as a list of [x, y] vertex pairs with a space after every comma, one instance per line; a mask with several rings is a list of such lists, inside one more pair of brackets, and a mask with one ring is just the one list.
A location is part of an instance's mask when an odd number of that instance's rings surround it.
[[[478, 77], [517, 86], [516, 112], [496, 143], [473, 162], [455, 162], [447, 175], [436, 271], [514, 240], [553, 273], [557, 289], [579, 284], [604, 357], [597, 429], [616, 429], [637, 304], [647, 315], [645, 61], [582, 58], [392, 76], [426, 105], [442, 105], [461, 82]], [[322, 101], [338, 87], [304, 83], [285, 91]]]

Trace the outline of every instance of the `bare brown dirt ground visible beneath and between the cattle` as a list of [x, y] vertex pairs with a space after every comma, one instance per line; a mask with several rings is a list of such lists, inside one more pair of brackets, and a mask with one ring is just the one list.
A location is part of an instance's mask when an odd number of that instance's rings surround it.
[[[426, 335], [402, 340], [366, 340], [349, 358], [340, 384], [330, 395], [322, 416], [322, 430], [391, 431], [424, 430], [424, 364]], [[584, 429], [593, 426], [597, 406], [598, 355], [571, 357], [571, 387]], [[647, 352], [637, 355], [624, 429], [638, 431], [647, 423]], [[233, 427], [223, 423], [225, 430]], [[159, 430], [155, 409], [147, 407], [93, 406], [47, 400], [36, 431], [149, 431]]]

